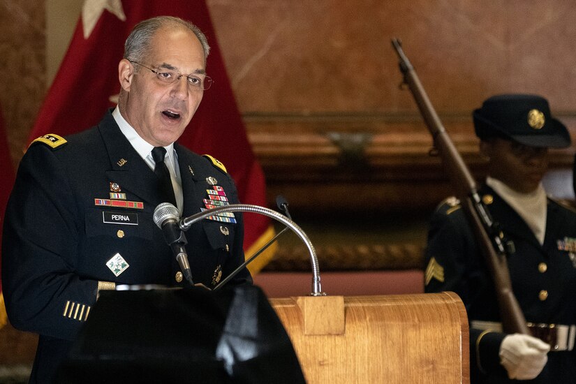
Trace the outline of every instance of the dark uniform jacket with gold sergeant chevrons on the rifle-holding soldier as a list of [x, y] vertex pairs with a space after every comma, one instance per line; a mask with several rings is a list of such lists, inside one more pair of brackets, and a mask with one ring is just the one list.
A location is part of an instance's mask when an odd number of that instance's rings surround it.
[[[489, 212], [499, 223], [511, 251], [508, 267], [512, 290], [526, 321], [575, 324], [576, 213], [549, 199], [545, 239], [540, 245], [524, 220], [492, 189], [485, 186], [480, 195], [489, 203]], [[500, 322], [492, 278], [464, 211], [453, 200], [444, 202], [431, 219], [426, 263], [426, 292], [454, 291], [464, 302], [469, 320]], [[482, 331], [470, 331], [472, 383], [515, 382], [508, 380], [499, 363], [499, 347], [505, 334], [491, 332], [478, 343]], [[576, 351], [548, 353], [548, 363], [540, 376], [522, 383], [576, 383]]]

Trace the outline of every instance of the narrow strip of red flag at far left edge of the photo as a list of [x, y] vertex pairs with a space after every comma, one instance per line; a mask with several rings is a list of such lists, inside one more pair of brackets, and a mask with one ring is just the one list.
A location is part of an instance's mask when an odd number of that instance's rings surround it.
[[[4, 188], [0, 189], [0, 255], [2, 249], [2, 233], [4, 222], [4, 211], [6, 209], [6, 202], [8, 196], [12, 191], [14, 184], [14, 170], [12, 168], [12, 159], [10, 158], [10, 150], [8, 149], [8, 140], [6, 130], [4, 129], [2, 113], [0, 110], [0, 179], [3, 180]], [[1, 269], [0, 269], [1, 272]], [[4, 296], [2, 295], [2, 280], [0, 278], [0, 328], [6, 325], [6, 307], [4, 307]]]

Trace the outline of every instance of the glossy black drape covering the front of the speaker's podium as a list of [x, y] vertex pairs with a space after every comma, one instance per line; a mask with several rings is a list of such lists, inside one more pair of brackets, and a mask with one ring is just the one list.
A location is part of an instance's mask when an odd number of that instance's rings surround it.
[[103, 291], [57, 383], [304, 383], [256, 286]]

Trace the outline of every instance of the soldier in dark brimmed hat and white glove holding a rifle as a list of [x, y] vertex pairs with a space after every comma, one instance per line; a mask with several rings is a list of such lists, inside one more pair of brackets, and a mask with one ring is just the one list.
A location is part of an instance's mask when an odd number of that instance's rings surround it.
[[541, 183], [548, 148], [568, 147], [570, 136], [540, 96], [493, 96], [473, 120], [488, 158], [480, 196], [502, 231], [531, 335], [503, 333], [492, 276], [455, 198], [431, 219], [425, 291], [451, 290], [464, 302], [472, 383], [576, 383], [576, 213]]

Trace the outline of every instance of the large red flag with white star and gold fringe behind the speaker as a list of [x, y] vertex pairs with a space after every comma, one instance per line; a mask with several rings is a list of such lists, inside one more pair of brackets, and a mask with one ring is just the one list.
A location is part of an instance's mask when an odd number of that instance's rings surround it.
[[[99, 3], [100, 5], [95, 5]], [[105, 8], [105, 9], [104, 9]], [[149, 17], [182, 17], [197, 25], [211, 46], [207, 73], [214, 85], [179, 139], [198, 154], [210, 154], [226, 165], [244, 204], [265, 205], [264, 175], [246, 138], [216, 34], [204, 0], [84, 1], [68, 52], [48, 91], [29, 141], [47, 133], [64, 136], [94, 126], [119, 94], [118, 62], [124, 40], [134, 25]], [[246, 256], [274, 236], [266, 216], [246, 214]], [[272, 258], [274, 247], [249, 265], [254, 274]]]

